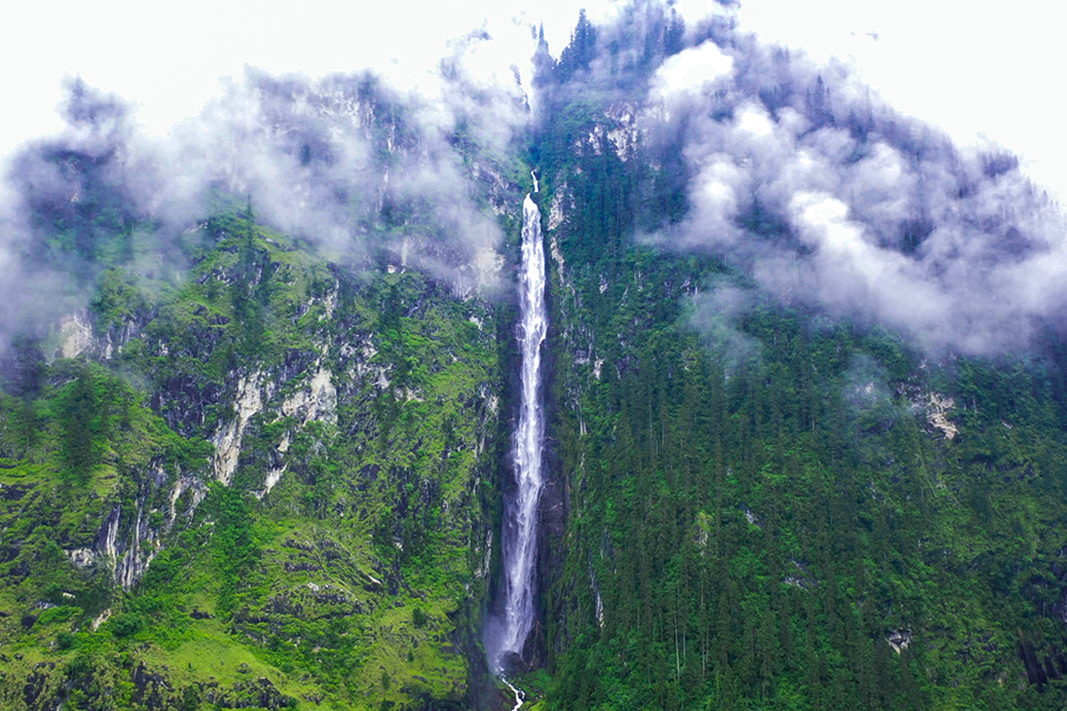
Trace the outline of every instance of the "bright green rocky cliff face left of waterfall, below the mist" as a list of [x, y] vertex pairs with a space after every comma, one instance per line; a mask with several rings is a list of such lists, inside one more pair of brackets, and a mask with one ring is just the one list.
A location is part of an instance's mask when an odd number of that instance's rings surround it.
[[491, 702], [501, 307], [200, 229], [5, 368], [4, 708]]

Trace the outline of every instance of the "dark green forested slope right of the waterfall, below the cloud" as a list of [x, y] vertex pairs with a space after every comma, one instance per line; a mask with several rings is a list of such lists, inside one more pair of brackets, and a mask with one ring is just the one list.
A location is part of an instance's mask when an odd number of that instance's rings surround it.
[[1062, 353], [927, 358], [777, 301], [717, 310], [745, 275], [633, 240], [684, 211], [674, 148], [624, 161], [598, 107], [552, 117], [570, 510], [536, 708], [1063, 708]]

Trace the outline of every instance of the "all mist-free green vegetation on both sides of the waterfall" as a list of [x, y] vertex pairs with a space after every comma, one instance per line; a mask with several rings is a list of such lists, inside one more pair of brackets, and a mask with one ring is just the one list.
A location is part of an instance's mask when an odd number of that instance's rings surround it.
[[[553, 481], [526, 708], [1064, 708], [1063, 339], [923, 354], [643, 243], [687, 210], [680, 146], [605, 138], [682, 47], [647, 19], [605, 66], [584, 15], [539, 58]], [[418, 152], [376, 106], [381, 164]], [[477, 119], [451, 138], [517, 215], [527, 166], [488, 168]], [[394, 195], [353, 219], [359, 255], [323, 254], [217, 193], [164, 235], [110, 157], [46, 159], [74, 188], [29, 206], [28, 258], [87, 308], [0, 354], [0, 709], [507, 704], [479, 634], [514, 307], [387, 246], [451, 244], [447, 221]]]

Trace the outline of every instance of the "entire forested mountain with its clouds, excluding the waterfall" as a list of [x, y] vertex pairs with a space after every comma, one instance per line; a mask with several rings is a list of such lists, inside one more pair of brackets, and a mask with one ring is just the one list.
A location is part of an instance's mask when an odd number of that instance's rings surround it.
[[[729, 70], [670, 88], [695, 56]], [[983, 295], [1047, 252], [1018, 161], [658, 3], [534, 64], [519, 102], [445, 67], [444, 128], [370, 75], [253, 72], [258, 128], [214, 120], [272, 171], [238, 150], [200, 182], [71, 85], [70, 131], [7, 175], [0, 708], [512, 707], [481, 634], [530, 169], [526, 708], [1067, 704], [1067, 345], [1052, 307]], [[812, 185], [848, 220], [813, 222]]]

